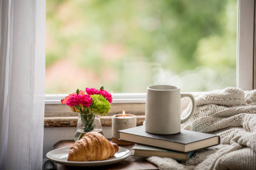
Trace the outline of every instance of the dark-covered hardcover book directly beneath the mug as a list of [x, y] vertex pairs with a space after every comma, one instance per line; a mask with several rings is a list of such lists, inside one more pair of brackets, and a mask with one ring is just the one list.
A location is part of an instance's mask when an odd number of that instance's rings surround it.
[[181, 130], [180, 133], [174, 135], [156, 135], [145, 132], [145, 127], [142, 125], [118, 132], [120, 132], [120, 140], [126, 142], [183, 153], [220, 144], [220, 137], [217, 135], [191, 130]]

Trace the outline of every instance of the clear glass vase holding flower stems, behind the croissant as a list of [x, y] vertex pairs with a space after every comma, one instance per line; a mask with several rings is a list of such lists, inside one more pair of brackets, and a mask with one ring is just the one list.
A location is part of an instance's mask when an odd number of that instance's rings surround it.
[[80, 140], [85, 133], [96, 131], [102, 132], [100, 116], [97, 114], [78, 113], [77, 129], [75, 131], [74, 140]]

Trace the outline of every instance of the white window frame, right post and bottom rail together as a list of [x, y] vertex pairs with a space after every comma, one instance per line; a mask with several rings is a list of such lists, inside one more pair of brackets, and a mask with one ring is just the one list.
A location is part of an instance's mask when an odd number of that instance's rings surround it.
[[[238, 0], [236, 86], [253, 90], [255, 0]], [[199, 92], [191, 92], [198, 94]], [[67, 95], [45, 95], [45, 105], [61, 104]], [[114, 93], [113, 103], [145, 103], [146, 93]]]

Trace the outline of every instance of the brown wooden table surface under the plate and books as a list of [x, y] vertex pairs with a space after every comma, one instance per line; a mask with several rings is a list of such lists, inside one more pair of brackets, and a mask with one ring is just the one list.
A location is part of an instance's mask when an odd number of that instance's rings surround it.
[[[111, 140], [110, 140], [111, 142]], [[61, 140], [54, 144], [54, 149], [63, 148], [72, 146], [74, 144], [74, 140]], [[126, 148], [131, 151], [133, 154], [133, 148], [134, 145], [129, 146], [120, 146], [122, 148]], [[86, 167], [69, 167], [61, 164], [56, 164], [58, 170], [85, 170], [85, 169], [93, 169], [93, 170], [158, 170], [158, 168], [152, 164], [146, 161], [144, 157], [138, 157], [138, 156], [130, 156], [126, 158], [125, 160], [115, 163], [112, 165], [105, 165], [101, 167], [93, 167], [93, 168], [86, 168]]]

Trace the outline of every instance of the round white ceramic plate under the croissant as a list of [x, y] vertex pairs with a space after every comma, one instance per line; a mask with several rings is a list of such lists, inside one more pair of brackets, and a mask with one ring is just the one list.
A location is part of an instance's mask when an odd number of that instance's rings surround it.
[[131, 152], [128, 149], [118, 147], [118, 152], [115, 153], [112, 158], [108, 158], [106, 160], [85, 162], [67, 161], [70, 148], [71, 147], [66, 147], [52, 150], [46, 154], [46, 157], [55, 163], [68, 166], [102, 166], [118, 163], [131, 155]]

